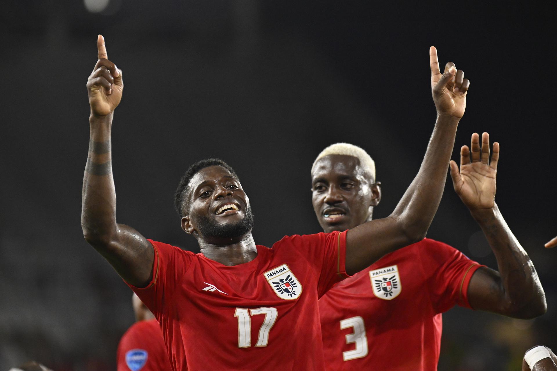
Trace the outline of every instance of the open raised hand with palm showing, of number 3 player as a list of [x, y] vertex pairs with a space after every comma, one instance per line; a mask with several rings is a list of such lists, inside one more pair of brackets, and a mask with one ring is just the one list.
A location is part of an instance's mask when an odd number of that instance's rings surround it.
[[[462, 202], [468, 209], [491, 209], [495, 206], [495, 178], [497, 174], [497, 161], [499, 161], [499, 143], [493, 144], [493, 155], [489, 160], [490, 144], [489, 134], [480, 136], [472, 134], [470, 151], [468, 146], [460, 149], [460, 171], [455, 161], [451, 160], [451, 177], [453, 186]], [[470, 159], [472, 154], [472, 159]]]

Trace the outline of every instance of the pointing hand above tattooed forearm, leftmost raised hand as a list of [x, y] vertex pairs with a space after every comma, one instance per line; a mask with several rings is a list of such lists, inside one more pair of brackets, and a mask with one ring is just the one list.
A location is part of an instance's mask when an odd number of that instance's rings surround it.
[[97, 37], [97, 61], [93, 72], [87, 80], [87, 92], [89, 93], [89, 105], [91, 115], [106, 116], [113, 112], [120, 103], [124, 82], [122, 71], [107, 58], [104, 37]]

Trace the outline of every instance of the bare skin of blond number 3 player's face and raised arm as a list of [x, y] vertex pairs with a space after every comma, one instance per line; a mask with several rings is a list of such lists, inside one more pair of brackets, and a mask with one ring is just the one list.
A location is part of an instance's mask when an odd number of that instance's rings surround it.
[[[484, 231], [497, 258], [499, 271], [482, 267], [472, 275], [468, 300], [472, 308], [515, 318], [534, 318], [546, 311], [545, 294], [538, 274], [495, 204], [495, 175], [499, 144], [489, 161], [489, 136], [471, 139], [461, 149], [460, 171], [451, 161], [453, 185]], [[471, 159], [470, 159], [471, 156]], [[362, 174], [367, 175], [362, 179]], [[344, 231], [371, 220], [381, 199], [380, 186], [362, 171], [353, 156], [329, 155], [317, 160], [312, 172], [312, 204], [325, 232]], [[342, 211], [340, 217], [326, 215]]]

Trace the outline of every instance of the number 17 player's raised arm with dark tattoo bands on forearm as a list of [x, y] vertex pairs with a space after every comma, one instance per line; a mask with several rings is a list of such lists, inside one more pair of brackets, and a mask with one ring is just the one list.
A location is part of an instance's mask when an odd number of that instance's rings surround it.
[[83, 177], [81, 227], [85, 240], [128, 283], [143, 287], [152, 276], [154, 250], [138, 231], [116, 223], [116, 191], [112, 176], [111, 126], [124, 83], [122, 71], [107, 58], [104, 38], [97, 38], [99, 60], [87, 80], [89, 156]]

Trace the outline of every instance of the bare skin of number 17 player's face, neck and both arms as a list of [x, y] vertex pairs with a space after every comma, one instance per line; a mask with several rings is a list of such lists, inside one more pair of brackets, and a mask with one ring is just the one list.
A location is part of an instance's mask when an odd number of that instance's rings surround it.
[[[122, 72], [108, 60], [104, 38], [97, 37], [97, 63], [87, 81], [89, 156], [82, 190], [81, 226], [86, 241], [129, 284], [145, 287], [152, 280], [154, 250], [138, 231], [116, 222], [116, 192], [111, 165], [111, 127], [124, 88]], [[429, 50], [431, 91], [437, 108], [426, 155], [418, 174], [391, 215], [354, 227], [346, 236], [346, 273], [354, 274], [381, 256], [422, 240], [437, 211], [456, 129], [466, 109], [470, 82], [454, 66], [439, 71], [437, 50]], [[396, 75], [398, 76], [398, 75]], [[402, 101], [401, 104], [404, 104]], [[249, 199], [240, 182], [221, 166], [199, 171], [188, 187], [182, 229], [192, 234], [202, 253], [224, 265], [247, 263], [257, 250], [251, 230], [229, 238], [204, 234], [199, 221], [237, 225], [246, 217]], [[236, 202], [238, 210], [215, 215], [219, 205]], [[374, 241], [369, 244], [369, 241]]]

